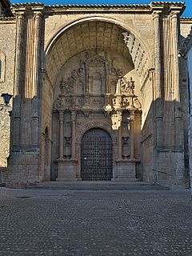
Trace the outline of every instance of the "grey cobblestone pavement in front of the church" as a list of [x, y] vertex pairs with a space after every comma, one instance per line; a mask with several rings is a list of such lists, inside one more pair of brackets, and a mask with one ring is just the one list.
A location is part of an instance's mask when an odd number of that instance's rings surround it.
[[191, 256], [190, 191], [0, 188], [0, 255]]

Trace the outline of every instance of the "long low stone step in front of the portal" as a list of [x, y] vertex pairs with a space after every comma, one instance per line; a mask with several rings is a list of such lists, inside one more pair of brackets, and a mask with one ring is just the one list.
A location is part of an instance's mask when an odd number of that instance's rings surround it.
[[42, 182], [37, 186], [26, 186], [26, 189], [36, 190], [170, 190], [150, 182]]

